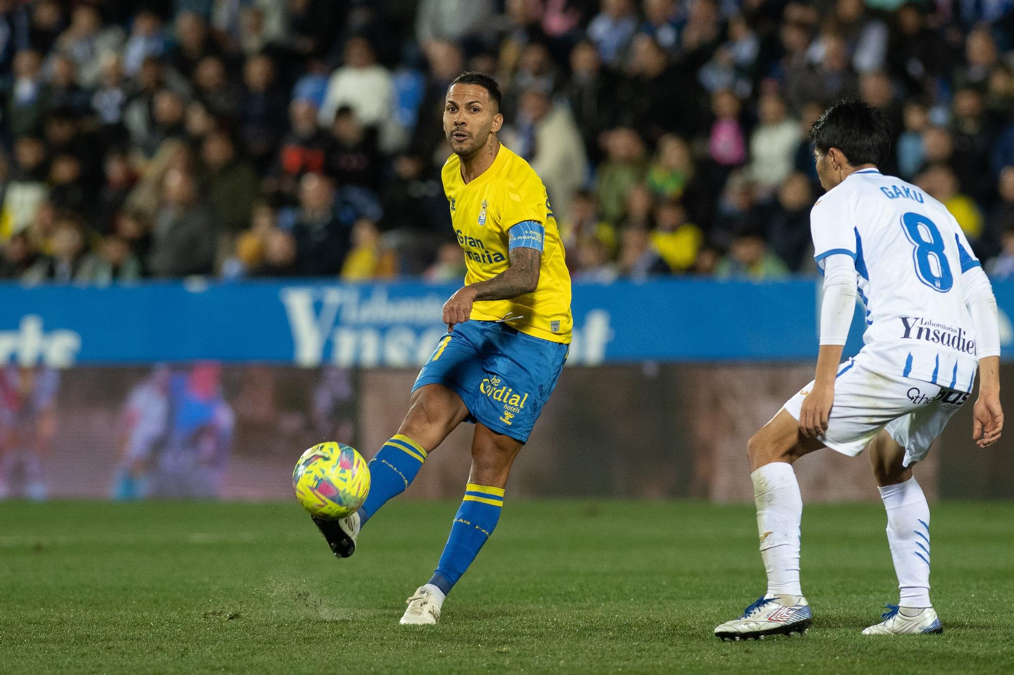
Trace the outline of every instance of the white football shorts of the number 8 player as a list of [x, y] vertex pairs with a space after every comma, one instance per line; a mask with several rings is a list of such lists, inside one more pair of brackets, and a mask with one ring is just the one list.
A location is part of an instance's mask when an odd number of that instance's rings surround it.
[[[784, 405], [799, 420], [810, 382]], [[949, 387], [888, 375], [866, 368], [854, 359], [839, 367], [835, 404], [827, 420], [824, 445], [855, 457], [881, 429], [904, 448], [904, 465], [921, 461], [968, 394]]]

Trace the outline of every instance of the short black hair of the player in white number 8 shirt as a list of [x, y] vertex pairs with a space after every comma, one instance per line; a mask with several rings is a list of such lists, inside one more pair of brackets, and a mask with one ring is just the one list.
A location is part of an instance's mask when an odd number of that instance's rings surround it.
[[857, 98], [831, 103], [813, 123], [809, 138], [821, 154], [838, 148], [853, 166], [880, 164], [890, 152], [887, 119]]

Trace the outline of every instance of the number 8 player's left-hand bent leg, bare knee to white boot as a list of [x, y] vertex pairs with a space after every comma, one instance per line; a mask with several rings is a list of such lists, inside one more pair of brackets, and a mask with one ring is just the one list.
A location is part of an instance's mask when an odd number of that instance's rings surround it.
[[799, 525], [803, 501], [792, 463], [823, 445], [804, 437], [785, 408], [747, 444], [757, 508], [760, 556], [768, 590], [743, 615], [715, 628], [722, 640], [803, 632], [813, 619], [799, 582]]

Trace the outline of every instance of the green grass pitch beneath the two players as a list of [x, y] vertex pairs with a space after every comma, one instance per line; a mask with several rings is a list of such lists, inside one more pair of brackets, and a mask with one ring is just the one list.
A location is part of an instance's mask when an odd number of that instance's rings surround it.
[[1014, 504], [932, 509], [942, 635], [896, 602], [879, 505], [808, 506], [802, 639], [722, 643], [764, 589], [752, 508], [508, 501], [437, 626], [397, 624], [456, 506], [395, 502], [338, 560], [291, 504], [0, 505], [2, 673], [1001, 673]]

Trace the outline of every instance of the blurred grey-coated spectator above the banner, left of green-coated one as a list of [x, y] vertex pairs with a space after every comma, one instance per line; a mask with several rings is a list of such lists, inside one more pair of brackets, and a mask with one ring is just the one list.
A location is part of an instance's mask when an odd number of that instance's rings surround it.
[[207, 275], [214, 270], [217, 228], [198, 199], [194, 176], [170, 169], [155, 214], [148, 269], [155, 277]]

